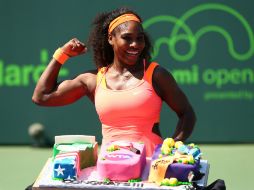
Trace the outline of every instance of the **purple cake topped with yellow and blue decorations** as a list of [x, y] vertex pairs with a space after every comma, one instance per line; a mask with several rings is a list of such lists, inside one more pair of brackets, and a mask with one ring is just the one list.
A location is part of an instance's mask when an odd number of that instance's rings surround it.
[[166, 138], [154, 151], [148, 180], [158, 185], [186, 184], [199, 171], [200, 157], [201, 151], [193, 143]]

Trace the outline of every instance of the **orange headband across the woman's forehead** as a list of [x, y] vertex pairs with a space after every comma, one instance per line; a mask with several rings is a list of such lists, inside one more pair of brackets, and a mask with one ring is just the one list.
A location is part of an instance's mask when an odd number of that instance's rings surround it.
[[130, 20], [140, 22], [140, 19], [134, 14], [131, 14], [131, 13], [123, 14], [110, 22], [108, 27], [108, 33], [110, 34], [115, 29], [115, 27]]

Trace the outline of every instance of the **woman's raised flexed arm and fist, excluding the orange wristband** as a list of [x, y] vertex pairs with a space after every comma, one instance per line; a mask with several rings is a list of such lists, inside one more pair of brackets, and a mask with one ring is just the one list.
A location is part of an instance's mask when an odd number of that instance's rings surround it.
[[[77, 39], [67, 42], [62, 51], [69, 57], [86, 52], [86, 47]], [[90, 95], [96, 72], [83, 73], [72, 80], [57, 83], [62, 64], [52, 59], [42, 73], [34, 89], [32, 101], [42, 106], [62, 106], [75, 102], [84, 95]]]

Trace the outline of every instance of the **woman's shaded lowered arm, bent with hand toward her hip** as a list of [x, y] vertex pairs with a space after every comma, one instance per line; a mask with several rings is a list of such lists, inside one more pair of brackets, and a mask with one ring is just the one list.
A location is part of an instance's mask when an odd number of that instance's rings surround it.
[[176, 112], [179, 118], [173, 138], [186, 140], [191, 135], [196, 122], [196, 115], [187, 97], [178, 87], [173, 76], [161, 66], [155, 69], [153, 85], [157, 94]]

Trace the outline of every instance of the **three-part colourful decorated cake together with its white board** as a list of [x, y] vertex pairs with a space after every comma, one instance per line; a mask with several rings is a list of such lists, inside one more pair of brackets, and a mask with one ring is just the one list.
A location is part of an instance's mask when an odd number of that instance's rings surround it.
[[142, 142], [113, 141], [101, 146], [99, 154], [97, 147], [94, 136], [56, 136], [53, 156], [35, 189], [185, 190], [200, 171], [199, 147], [172, 138], [158, 144], [149, 158]]

